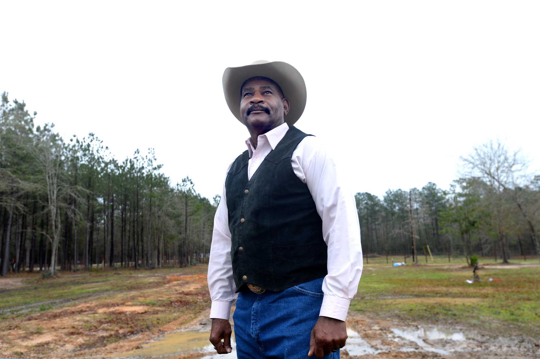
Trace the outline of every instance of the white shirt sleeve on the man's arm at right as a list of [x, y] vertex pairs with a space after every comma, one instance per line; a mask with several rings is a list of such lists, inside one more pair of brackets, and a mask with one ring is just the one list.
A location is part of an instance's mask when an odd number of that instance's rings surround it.
[[293, 170], [313, 196], [328, 246], [328, 274], [319, 315], [345, 321], [362, 275], [362, 247], [356, 202], [327, 148], [313, 136], [300, 142]]

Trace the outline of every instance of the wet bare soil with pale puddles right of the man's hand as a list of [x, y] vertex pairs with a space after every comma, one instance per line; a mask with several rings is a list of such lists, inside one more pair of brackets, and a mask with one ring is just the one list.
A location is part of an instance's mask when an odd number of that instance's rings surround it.
[[347, 319], [344, 359], [538, 358], [540, 347], [523, 336], [502, 337], [464, 327], [379, 320], [359, 315]]

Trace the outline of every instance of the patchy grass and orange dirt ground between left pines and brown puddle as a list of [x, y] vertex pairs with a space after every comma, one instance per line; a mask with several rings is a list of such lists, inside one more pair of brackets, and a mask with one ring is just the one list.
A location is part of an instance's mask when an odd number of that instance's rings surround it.
[[40, 273], [11, 274], [8, 280], [23, 279], [23, 285], [0, 289], [3, 350], [54, 333], [51, 341], [24, 346], [27, 357], [51, 357], [62, 344], [94, 350], [140, 333], [157, 335], [164, 326], [174, 329], [210, 307], [206, 272], [206, 265], [198, 265], [60, 272], [47, 279]]

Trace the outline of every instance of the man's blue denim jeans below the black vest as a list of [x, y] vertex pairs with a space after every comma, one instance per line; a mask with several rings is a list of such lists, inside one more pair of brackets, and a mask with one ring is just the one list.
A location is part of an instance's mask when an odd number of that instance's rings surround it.
[[[240, 292], [233, 314], [238, 358], [308, 358], [311, 330], [322, 305], [322, 280], [281, 292]], [[323, 358], [339, 359], [339, 350]]]

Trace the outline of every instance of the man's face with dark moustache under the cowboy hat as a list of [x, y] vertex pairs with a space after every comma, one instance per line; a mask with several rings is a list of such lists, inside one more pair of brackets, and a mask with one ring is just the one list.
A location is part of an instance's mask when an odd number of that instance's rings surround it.
[[251, 78], [241, 89], [240, 114], [248, 128], [275, 128], [284, 123], [289, 102], [275, 82]]

